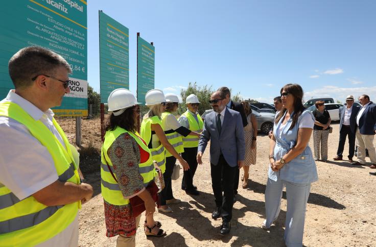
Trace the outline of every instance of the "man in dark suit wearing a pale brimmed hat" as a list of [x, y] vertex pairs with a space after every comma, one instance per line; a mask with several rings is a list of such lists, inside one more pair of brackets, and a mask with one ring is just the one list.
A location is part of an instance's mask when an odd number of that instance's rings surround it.
[[348, 136], [348, 161], [354, 163], [354, 150], [355, 150], [355, 132], [357, 130], [357, 114], [360, 107], [354, 105], [354, 96], [348, 95], [346, 97], [346, 106], [339, 110], [339, 143], [337, 156], [334, 160], [342, 160], [343, 148], [345, 146], [346, 136]]

